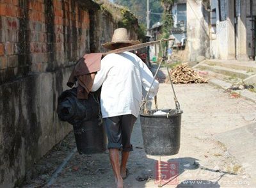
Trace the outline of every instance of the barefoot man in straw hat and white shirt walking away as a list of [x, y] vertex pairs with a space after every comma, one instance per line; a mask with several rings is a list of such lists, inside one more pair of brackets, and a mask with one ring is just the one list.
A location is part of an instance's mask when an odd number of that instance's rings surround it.
[[[112, 41], [102, 46], [118, 49], [139, 43], [129, 40], [127, 29], [115, 30]], [[126, 168], [129, 152], [132, 151], [132, 127], [140, 113], [142, 88], [146, 91], [154, 81], [150, 97], [158, 91], [158, 82], [147, 65], [131, 52], [108, 54], [100, 62], [100, 70], [95, 75], [92, 91], [102, 86], [100, 107], [104, 127], [108, 136], [109, 158], [115, 175], [116, 187], [123, 187], [123, 179], [129, 173]], [[122, 151], [121, 164], [119, 151]]]

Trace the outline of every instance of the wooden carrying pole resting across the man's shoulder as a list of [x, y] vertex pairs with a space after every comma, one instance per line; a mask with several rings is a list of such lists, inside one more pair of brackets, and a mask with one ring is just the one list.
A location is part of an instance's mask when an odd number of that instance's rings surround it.
[[156, 43], [160, 43], [161, 41], [166, 42], [166, 41], [169, 41], [169, 40], [174, 40], [174, 38], [167, 38], [167, 39], [164, 39], [164, 40], [156, 40], [156, 41], [152, 41], [152, 42], [139, 43], [139, 44], [136, 44], [136, 45], [131, 45], [131, 46], [128, 46], [128, 47], [123, 47], [123, 48], [120, 48], [120, 49], [116, 49], [116, 50], [113, 50], [113, 51], [102, 53], [102, 56], [106, 56], [108, 54], [118, 54], [118, 53], [127, 52], [127, 51], [135, 51], [135, 50], [138, 50], [138, 49], [142, 49], [143, 47], [147, 47], [149, 45], [154, 45]]

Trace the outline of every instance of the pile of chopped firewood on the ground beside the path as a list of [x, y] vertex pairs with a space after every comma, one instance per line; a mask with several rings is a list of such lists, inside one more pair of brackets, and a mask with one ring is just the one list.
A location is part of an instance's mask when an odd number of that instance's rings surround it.
[[186, 63], [173, 68], [170, 74], [173, 84], [207, 83], [207, 79], [200, 77]]

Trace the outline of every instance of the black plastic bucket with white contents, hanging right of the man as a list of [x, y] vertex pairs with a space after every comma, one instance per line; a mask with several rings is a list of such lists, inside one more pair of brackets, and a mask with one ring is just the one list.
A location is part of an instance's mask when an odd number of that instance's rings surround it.
[[159, 109], [168, 115], [140, 114], [143, 145], [148, 155], [175, 155], [180, 149], [180, 121], [182, 111]]

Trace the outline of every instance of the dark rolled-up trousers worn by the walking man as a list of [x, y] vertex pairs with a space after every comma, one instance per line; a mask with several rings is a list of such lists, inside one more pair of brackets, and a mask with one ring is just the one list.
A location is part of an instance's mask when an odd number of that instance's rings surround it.
[[124, 152], [132, 151], [131, 133], [137, 118], [132, 114], [103, 118], [108, 136], [108, 149], [116, 148]]

